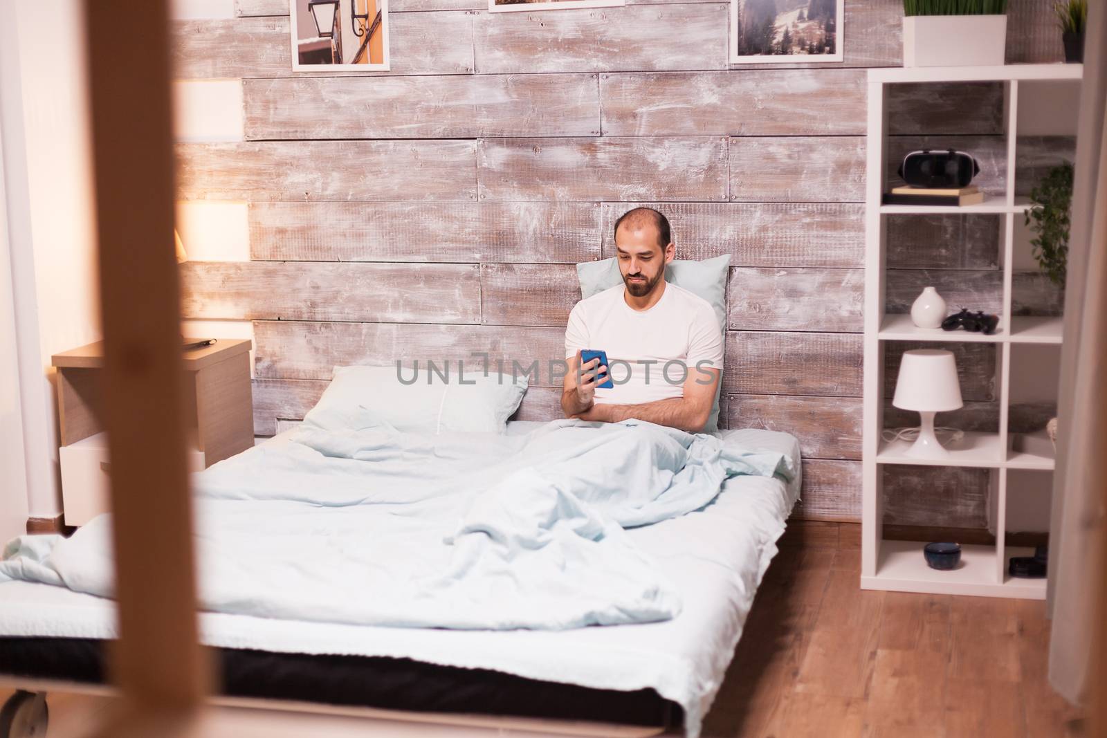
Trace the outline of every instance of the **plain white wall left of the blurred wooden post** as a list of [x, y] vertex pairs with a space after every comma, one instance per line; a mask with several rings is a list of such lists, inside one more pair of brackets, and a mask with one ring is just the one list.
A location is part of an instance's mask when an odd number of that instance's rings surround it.
[[[72, 0], [8, 3], [0, 125], [27, 514], [61, 512], [50, 356], [100, 337], [84, 31]], [[64, 23], [58, 19], [64, 18]], [[42, 43], [42, 29], [51, 43]], [[0, 288], [2, 289], [2, 288]], [[13, 432], [6, 416], [3, 433]]]

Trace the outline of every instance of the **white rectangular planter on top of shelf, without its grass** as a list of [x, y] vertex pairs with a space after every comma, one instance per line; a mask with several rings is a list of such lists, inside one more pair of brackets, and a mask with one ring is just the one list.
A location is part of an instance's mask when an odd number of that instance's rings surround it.
[[903, 66], [1002, 65], [1006, 15], [904, 15]]

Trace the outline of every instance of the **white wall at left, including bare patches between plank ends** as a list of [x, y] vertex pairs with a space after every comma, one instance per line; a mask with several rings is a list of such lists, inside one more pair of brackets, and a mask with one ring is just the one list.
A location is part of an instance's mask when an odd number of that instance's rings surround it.
[[[52, 354], [100, 340], [84, 29], [75, 0], [4, 3], [0, 23], [0, 540], [61, 513]], [[178, 19], [230, 18], [234, 0], [173, 0]], [[64, 23], [58, 23], [64, 18]], [[51, 43], [41, 42], [41, 29]], [[177, 138], [242, 138], [241, 81], [174, 85]], [[6, 215], [6, 217], [3, 217]], [[194, 260], [249, 259], [245, 204], [184, 204]], [[170, 248], [167, 246], [166, 248]], [[183, 331], [252, 337], [247, 321]]]

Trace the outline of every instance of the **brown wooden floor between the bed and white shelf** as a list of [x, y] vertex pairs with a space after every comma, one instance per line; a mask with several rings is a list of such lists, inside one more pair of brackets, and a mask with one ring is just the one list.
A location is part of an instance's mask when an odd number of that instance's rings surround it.
[[[857, 549], [782, 548], [704, 736], [1083, 735], [1046, 683], [1044, 603], [863, 592], [859, 565]], [[49, 704], [62, 735], [105, 701]]]

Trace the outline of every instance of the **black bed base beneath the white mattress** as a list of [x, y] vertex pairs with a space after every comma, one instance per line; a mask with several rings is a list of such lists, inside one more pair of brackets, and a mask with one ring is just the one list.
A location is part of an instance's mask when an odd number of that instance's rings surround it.
[[[0, 636], [0, 674], [100, 684], [105, 646], [94, 638]], [[683, 718], [679, 705], [653, 689], [592, 689], [411, 658], [213, 651], [220, 694], [235, 697], [637, 726], [669, 727]]]

